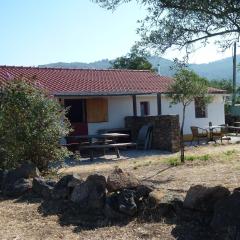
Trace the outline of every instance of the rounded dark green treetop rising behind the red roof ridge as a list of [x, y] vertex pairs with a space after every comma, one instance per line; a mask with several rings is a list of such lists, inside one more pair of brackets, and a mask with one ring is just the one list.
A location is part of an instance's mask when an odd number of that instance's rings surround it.
[[129, 53], [124, 57], [117, 58], [112, 63], [115, 69], [135, 69], [135, 70], [153, 70], [152, 64], [144, 57], [137, 53]]

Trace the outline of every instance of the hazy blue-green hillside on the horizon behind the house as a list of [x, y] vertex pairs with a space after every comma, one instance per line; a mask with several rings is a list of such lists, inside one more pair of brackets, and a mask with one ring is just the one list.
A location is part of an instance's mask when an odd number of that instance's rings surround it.
[[[172, 76], [173, 71], [170, 67], [173, 61], [153, 56], [149, 57], [148, 60], [152, 63], [154, 68], [160, 65], [160, 71], [162, 75]], [[237, 56], [237, 62], [240, 62], [240, 55]], [[39, 67], [53, 67], [53, 68], [94, 68], [94, 69], [108, 69], [111, 67], [111, 60], [103, 59], [91, 63], [83, 62], [57, 62], [45, 65], [39, 65]], [[190, 64], [190, 68], [193, 69], [200, 76], [206, 77], [209, 80], [212, 79], [231, 79], [232, 78], [232, 58], [224, 58], [218, 61], [206, 63], [206, 64]], [[240, 74], [237, 74], [237, 81], [240, 83]]]

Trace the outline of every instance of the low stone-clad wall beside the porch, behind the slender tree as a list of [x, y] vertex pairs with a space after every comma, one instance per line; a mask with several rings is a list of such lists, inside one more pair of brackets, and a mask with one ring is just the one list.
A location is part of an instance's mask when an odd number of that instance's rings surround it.
[[153, 125], [152, 148], [170, 152], [179, 151], [180, 127], [178, 115], [161, 115], [125, 118], [125, 125], [131, 129], [133, 140], [137, 139], [139, 129], [151, 123]]

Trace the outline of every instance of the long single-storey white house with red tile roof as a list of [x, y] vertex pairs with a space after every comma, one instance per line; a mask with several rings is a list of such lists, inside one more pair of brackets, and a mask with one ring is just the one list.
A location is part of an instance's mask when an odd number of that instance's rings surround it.
[[[182, 119], [182, 106], [171, 106], [167, 98], [173, 79], [150, 71], [0, 66], [0, 81], [20, 76], [34, 77], [39, 86], [70, 107], [68, 116], [77, 134], [124, 127], [126, 116], [179, 114]], [[225, 92], [209, 88], [209, 94], [213, 102], [205, 108], [196, 101], [187, 108], [185, 134], [190, 133], [190, 126], [225, 122]]]

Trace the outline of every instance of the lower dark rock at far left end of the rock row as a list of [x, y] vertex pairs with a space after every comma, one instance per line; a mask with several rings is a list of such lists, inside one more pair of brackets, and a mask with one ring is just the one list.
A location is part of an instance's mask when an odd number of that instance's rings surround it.
[[30, 179], [19, 178], [11, 184], [6, 184], [3, 189], [3, 195], [7, 197], [20, 197], [32, 188]]

